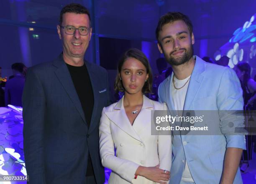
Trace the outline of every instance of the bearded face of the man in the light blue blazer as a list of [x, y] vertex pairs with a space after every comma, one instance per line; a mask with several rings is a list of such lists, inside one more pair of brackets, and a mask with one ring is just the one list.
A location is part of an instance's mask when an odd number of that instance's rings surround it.
[[176, 20], [165, 24], [159, 32], [159, 40], [159, 51], [164, 53], [167, 62], [172, 66], [179, 66], [192, 58], [194, 34], [190, 36], [184, 21]]

